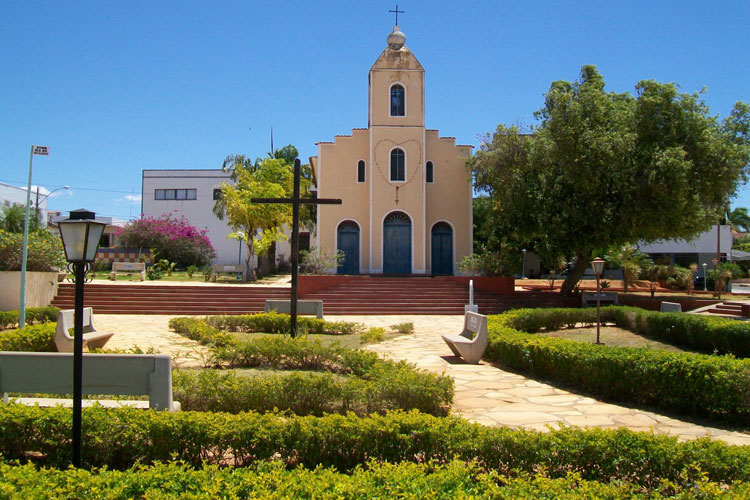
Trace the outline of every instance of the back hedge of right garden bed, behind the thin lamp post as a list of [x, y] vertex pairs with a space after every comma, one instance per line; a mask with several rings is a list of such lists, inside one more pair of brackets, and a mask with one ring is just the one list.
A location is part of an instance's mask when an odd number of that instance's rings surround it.
[[[696, 314], [661, 313], [637, 307], [603, 307], [602, 321], [639, 335], [663, 340], [670, 344], [708, 354], [733, 354], [750, 357], [750, 323], [727, 318], [711, 318]], [[512, 318], [511, 326], [527, 333], [542, 328], [558, 330], [576, 323], [593, 324], [596, 310], [526, 309]]]

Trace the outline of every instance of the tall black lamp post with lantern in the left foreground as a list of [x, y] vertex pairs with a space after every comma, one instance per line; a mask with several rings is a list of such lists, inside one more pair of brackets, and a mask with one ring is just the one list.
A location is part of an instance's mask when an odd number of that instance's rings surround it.
[[81, 466], [81, 399], [83, 387], [83, 281], [96, 258], [105, 223], [95, 220], [94, 212], [73, 210], [59, 222], [65, 258], [73, 267], [76, 283], [73, 316], [73, 466]]

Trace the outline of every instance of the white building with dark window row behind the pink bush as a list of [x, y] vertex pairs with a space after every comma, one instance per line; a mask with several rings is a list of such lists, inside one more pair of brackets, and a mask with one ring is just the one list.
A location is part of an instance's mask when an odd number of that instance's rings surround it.
[[229, 239], [232, 229], [226, 220], [213, 213], [214, 201], [223, 182], [231, 182], [229, 173], [220, 169], [144, 170], [141, 183], [141, 213], [160, 217], [173, 212], [197, 229], [207, 229], [216, 249], [216, 264], [238, 264], [247, 258], [245, 243]]

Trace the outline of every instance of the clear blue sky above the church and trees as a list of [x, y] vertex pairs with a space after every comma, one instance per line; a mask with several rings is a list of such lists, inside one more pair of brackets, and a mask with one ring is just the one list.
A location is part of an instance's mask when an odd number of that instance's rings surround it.
[[[137, 217], [144, 169], [219, 168], [367, 126], [367, 73], [395, 2], [0, 2], [0, 182], [58, 191], [49, 208]], [[607, 87], [705, 87], [721, 117], [750, 101], [747, 1], [399, 1], [426, 70], [426, 121], [478, 145], [533, 124], [554, 80], [595, 64]], [[750, 207], [750, 189], [734, 202]]]

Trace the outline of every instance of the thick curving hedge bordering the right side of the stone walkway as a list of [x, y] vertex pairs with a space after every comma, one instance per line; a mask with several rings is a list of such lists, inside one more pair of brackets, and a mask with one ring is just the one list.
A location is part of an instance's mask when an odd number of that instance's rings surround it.
[[750, 359], [599, 346], [511, 327], [554, 314], [535, 309], [491, 317], [485, 359], [612, 401], [750, 423]]

